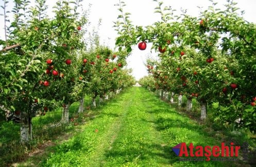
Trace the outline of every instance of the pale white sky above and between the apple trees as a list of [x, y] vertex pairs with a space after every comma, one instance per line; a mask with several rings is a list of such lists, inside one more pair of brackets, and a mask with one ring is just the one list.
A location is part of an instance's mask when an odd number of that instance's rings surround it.
[[[31, 2], [33, 0], [30, 0]], [[123, 0], [126, 4], [124, 7], [124, 12], [130, 12], [130, 20], [133, 25], [138, 26], [147, 26], [151, 25], [154, 22], [160, 20], [161, 16], [158, 13], [153, 13], [155, 7], [157, 6], [156, 2], [152, 0]], [[12, 2], [10, 0], [10, 2]], [[52, 7], [56, 0], [47, 0], [47, 5]], [[193, 16], [198, 16], [200, 10], [197, 6], [202, 7], [203, 10], [206, 10], [207, 7], [211, 4], [207, 0], [162, 0], [164, 6], [171, 6], [173, 9], [177, 10], [176, 14], [179, 14], [180, 9], [187, 9], [187, 13]], [[215, 0], [219, 5], [219, 8], [223, 7], [223, 4], [226, 4], [225, 0]], [[256, 1], [255, 0], [235, 0], [237, 2], [237, 7], [245, 11], [244, 18], [249, 22], [256, 23]], [[118, 11], [119, 0], [84, 0], [82, 2], [82, 7], [84, 9], [90, 8], [89, 22], [91, 22], [91, 28], [97, 28], [98, 20], [101, 18], [101, 26], [99, 27], [99, 36], [100, 43], [109, 46], [114, 49], [115, 47], [115, 38], [117, 37], [117, 32], [114, 30], [114, 23], [117, 20], [117, 16], [120, 14]], [[0, 2], [0, 5], [3, 5], [3, 1]], [[9, 4], [11, 6], [11, 3]], [[0, 13], [3, 13], [3, 9], [0, 9]], [[50, 14], [49, 14], [50, 15]], [[4, 19], [3, 16], [0, 16], [0, 39], [4, 39]], [[152, 51], [150, 52], [151, 45], [148, 44], [146, 50], [139, 50], [137, 46], [132, 47], [132, 53], [127, 58], [127, 68], [132, 68], [132, 75], [139, 80], [141, 77], [147, 75], [147, 69], [145, 67], [145, 62], [147, 58], [156, 58], [157, 53]]]

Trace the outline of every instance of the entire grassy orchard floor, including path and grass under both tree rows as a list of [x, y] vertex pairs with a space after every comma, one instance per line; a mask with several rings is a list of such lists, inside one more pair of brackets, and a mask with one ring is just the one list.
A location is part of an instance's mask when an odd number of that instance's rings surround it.
[[[186, 98], [183, 101], [185, 104]], [[85, 102], [84, 106], [88, 106], [91, 100], [87, 97]], [[18, 142], [19, 124], [5, 122], [0, 129], [3, 136], [0, 138], [0, 151], [5, 153], [0, 158], [0, 164], [2, 162], [1, 165], [5, 166], [3, 164], [23, 160], [18, 166], [244, 165], [242, 162], [178, 160], [172, 147], [180, 142], [213, 146], [223, 141], [238, 144], [248, 141], [255, 146], [255, 136], [246, 132], [234, 135], [224, 126], [213, 123], [214, 106], [208, 113], [208, 120], [198, 122], [198, 104], [193, 103], [195, 109], [192, 112], [183, 112], [184, 108], [177, 107], [177, 104], [170, 105], [142, 87], [126, 89], [113, 99], [79, 115], [79, 102], [76, 102], [70, 108], [70, 117], [79, 116], [75, 120], [79, 122], [78, 126], [71, 123], [51, 127], [60, 121], [61, 108], [48, 112], [44, 117], [33, 118], [34, 140], [30, 147]], [[24, 156], [36, 148], [43, 152]]]

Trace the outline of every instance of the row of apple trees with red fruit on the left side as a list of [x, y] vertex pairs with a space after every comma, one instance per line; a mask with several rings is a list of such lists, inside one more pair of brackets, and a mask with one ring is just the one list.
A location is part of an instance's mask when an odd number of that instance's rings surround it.
[[22, 141], [31, 139], [31, 119], [37, 114], [62, 106], [62, 123], [67, 123], [73, 102], [80, 100], [82, 112], [84, 96], [91, 96], [96, 105], [96, 97], [134, 84], [131, 71], [123, 68], [126, 51], [100, 46], [96, 32], [85, 38], [88, 18], [81, 2], [57, 2], [55, 16], [49, 18], [45, 0], [36, 0], [30, 8], [26, 0], [15, 1], [11, 23], [4, 2], [0, 114], [21, 123]]

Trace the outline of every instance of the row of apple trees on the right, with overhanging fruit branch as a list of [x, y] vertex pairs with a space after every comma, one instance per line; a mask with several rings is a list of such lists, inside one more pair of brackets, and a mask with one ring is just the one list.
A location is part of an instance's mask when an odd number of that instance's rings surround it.
[[[146, 27], [134, 26], [130, 13], [123, 12], [115, 22], [120, 50], [138, 44], [140, 50], [152, 48], [159, 61], [148, 60], [150, 77], [144, 85], [196, 98], [201, 104], [201, 119], [206, 106], [219, 105], [216, 119], [256, 132], [256, 25], [244, 20], [233, 1], [224, 10], [212, 5], [199, 17], [164, 7], [158, 2], [161, 21]], [[141, 80], [141, 81], [143, 81]]]

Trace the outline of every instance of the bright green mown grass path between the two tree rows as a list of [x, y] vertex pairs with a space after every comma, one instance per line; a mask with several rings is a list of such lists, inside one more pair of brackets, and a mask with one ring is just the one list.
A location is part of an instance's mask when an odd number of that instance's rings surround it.
[[229, 166], [220, 162], [180, 162], [172, 147], [180, 142], [220, 145], [197, 122], [141, 87], [122, 92], [97, 108], [80, 132], [54, 147], [39, 166]]

